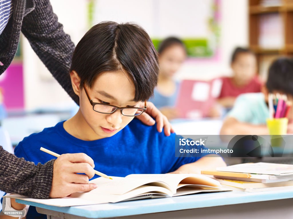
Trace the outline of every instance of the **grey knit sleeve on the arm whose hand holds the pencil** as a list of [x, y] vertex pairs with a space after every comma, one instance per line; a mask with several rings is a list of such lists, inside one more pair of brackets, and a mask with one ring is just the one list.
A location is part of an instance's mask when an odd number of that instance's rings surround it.
[[0, 146], [0, 190], [31, 198], [49, 198], [54, 161], [36, 166]]

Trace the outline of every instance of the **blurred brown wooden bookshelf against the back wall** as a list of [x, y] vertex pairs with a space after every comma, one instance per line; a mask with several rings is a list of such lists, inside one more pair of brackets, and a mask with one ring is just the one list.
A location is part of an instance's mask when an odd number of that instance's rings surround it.
[[249, 0], [249, 47], [255, 52], [260, 77], [279, 56], [293, 56], [293, 0]]

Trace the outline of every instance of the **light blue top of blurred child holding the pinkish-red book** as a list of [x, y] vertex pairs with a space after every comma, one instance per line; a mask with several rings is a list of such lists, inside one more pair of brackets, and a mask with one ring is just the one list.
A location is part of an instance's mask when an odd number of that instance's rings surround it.
[[157, 88], [154, 89], [154, 96], [149, 99], [158, 109], [162, 107], [175, 107], [176, 100], [178, 97], [180, 83], [178, 81], [175, 82], [175, 91], [170, 96], [165, 96], [161, 94]]

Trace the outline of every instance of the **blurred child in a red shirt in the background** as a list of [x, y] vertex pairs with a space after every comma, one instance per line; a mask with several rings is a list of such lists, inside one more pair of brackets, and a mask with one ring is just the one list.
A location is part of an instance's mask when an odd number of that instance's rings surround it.
[[261, 83], [256, 77], [256, 57], [247, 49], [237, 47], [231, 58], [233, 77], [224, 77], [218, 102], [223, 107], [231, 108], [236, 97], [242, 93], [260, 92]]

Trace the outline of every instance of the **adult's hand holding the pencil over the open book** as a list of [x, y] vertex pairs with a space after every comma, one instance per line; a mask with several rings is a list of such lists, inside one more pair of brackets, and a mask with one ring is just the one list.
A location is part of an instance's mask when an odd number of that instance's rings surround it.
[[88, 180], [95, 175], [93, 168], [93, 159], [84, 153], [60, 155], [54, 161], [50, 198], [62, 198], [74, 192], [88, 192], [95, 189], [96, 184], [88, 183]]

